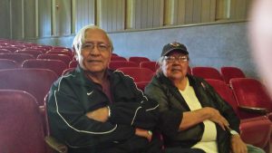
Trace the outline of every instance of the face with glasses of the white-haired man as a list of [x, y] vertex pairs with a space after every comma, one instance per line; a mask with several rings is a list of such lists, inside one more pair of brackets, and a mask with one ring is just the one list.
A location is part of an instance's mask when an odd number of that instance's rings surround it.
[[111, 60], [112, 46], [102, 30], [85, 31], [85, 43], [81, 48], [79, 63], [88, 72], [104, 72]]

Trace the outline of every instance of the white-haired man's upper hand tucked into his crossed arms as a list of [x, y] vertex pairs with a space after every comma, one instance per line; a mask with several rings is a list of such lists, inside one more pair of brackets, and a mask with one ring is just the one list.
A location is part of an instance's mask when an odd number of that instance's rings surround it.
[[103, 107], [98, 110], [93, 110], [93, 111], [87, 112], [86, 116], [92, 120], [105, 122], [109, 118], [109, 109], [107, 107]]

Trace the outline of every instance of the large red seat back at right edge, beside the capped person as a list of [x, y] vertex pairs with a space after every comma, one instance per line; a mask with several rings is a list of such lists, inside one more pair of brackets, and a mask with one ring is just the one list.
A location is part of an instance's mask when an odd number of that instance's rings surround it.
[[230, 87], [234, 91], [239, 108], [259, 115], [271, 113], [272, 100], [260, 81], [251, 78], [233, 78], [230, 80]]

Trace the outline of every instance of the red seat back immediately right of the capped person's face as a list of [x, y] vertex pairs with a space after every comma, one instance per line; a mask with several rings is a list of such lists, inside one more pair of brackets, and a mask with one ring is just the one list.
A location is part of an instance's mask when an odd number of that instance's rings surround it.
[[223, 81], [223, 78], [220, 72], [213, 67], [204, 67], [204, 66], [193, 67], [191, 69], [191, 73], [192, 75], [198, 76], [203, 79], [216, 79], [219, 81]]

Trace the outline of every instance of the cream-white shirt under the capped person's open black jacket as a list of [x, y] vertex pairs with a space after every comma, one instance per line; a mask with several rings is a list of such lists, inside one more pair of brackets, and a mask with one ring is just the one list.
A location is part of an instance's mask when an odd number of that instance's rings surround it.
[[[196, 96], [194, 89], [189, 86], [189, 81], [187, 79], [187, 84], [184, 91], [180, 91], [182, 97], [189, 106], [189, 110], [199, 110], [201, 109], [200, 102]], [[204, 133], [202, 139], [195, 144], [192, 148], [201, 148], [207, 153], [218, 153], [217, 147], [217, 129], [214, 122], [210, 120], [204, 120]]]

